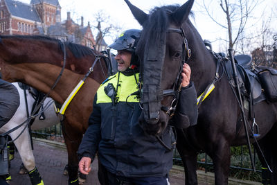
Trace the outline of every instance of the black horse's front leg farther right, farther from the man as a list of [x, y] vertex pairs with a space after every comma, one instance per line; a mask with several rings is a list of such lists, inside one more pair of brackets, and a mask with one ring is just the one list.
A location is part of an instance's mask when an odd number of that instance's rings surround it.
[[217, 139], [213, 148], [207, 153], [213, 160], [215, 170], [215, 185], [228, 184], [229, 168], [231, 161], [231, 152], [229, 143], [224, 138]]

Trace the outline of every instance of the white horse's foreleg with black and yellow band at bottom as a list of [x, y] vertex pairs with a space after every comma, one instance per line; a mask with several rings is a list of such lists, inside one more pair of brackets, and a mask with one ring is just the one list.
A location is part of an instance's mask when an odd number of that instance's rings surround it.
[[[15, 139], [23, 128], [18, 129], [15, 132], [12, 132], [10, 136], [12, 139]], [[15, 146], [19, 152], [21, 160], [25, 168], [28, 170], [28, 175], [32, 185], [42, 185], [44, 184], [42, 177], [40, 177], [37, 168], [35, 167], [35, 157], [33, 155], [33, 150], [30, 144], [30, 134], [28, 130], [24, 130], [21, 136], [15, 140]]]

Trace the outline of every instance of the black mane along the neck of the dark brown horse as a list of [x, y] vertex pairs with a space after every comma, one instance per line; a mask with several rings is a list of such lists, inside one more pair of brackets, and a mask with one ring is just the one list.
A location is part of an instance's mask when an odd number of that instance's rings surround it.
[[[61, 51], [63, 51], [63, 42], [60, 39], [55, 39], [42, 35], [0, 35], [1, 44], [3, 44], [2, 39], [5, 38], [35, 39], [42, 42], [57, 42], [57, 44], [59, 44]], [[64, 46], [66, 46], [71, 51], [71, 53], [73, 53], [75, 58], [82, 58], [87, 55], [96, 55], [96, 51], [93, 51], [93, 49], [90, 49], [87, 46], [82, 46], [80, 44], [75, 44], [73, 42], [64, 42]]]

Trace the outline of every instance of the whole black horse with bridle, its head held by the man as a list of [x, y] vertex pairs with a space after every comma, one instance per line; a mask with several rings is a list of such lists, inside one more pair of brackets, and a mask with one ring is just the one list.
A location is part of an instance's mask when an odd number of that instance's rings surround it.
[[[143, 26], [136, 49], [143, 63], [142, 103], [146, 121], [143, 127], [150, 133], [159, 133], [168, 123], [170, 114], [167, 113], [175, 107], [183, 62], [190, 65], [191, 80], [195, 82], [197, 94], [202, 94], [211, 82], [216, 81], [215, 89], [199, 107], [197, 125], [177, 130], [177, 149], [184, 163], [186, 184], [197, 184], [199, 152], [206, 152], [213, 159], [215, 184], [228, 184], [230, 147], [245, 145], [246, 132], [240, 105], [222, 65], [218, 67], [221, 78], [215, 78], [217, 60], [206, 49], [202, 37], [188, 19], [194, 1], [189, 0], [183, 6], [157, 7], [150, 11], [150, 15], [125, 1]], [[259, 144], [274, 173], [265, 172], [270, 175], [269, 183], [276, 184], [277, 105], [262, 100], [255, 105], [254, 112], [260, 128]], [[248, 121], [253, 123], [252, 119]], [[250, 133], [249, 127], [248, 130]], [[255, 140], [251, 137], [250, 141], [253, 143]], [[260, 159], [266, 168], [265, 161]]]

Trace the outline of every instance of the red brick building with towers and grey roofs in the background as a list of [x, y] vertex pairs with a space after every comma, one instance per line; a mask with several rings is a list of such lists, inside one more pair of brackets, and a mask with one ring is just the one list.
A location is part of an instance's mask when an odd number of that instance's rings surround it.
[[62, 21], [61, 10], [58, 0], [0, 0], [0, 35], [47, 35], [93, 48], [96, 41], [89, 23], [84, 26], [81, 17], [81, 25], [76, 24], [70, 12]]

